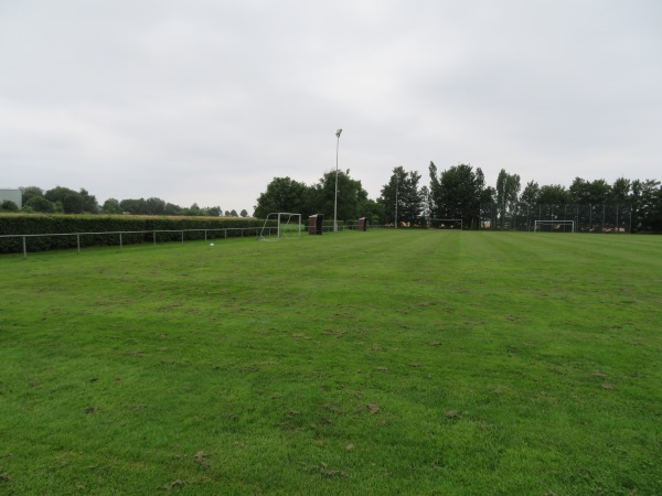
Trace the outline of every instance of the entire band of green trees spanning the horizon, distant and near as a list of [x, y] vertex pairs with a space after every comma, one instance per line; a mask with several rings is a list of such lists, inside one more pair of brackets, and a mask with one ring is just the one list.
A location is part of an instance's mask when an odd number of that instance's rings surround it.
[[[538, 206], [538, 213], [543, 212], [541, 205], [554, 206], [546, 212], [588, 212], [592, 222], [596, 217], [592, 212], [597, 212], [597, 205], [620, 205], [628, 208], [632, 231], [662, 231], [662, 187], [656, 180], [619, 177], [609, 184], [601, 179], [587, 181], [576, 177], [567, 188], [559, 184], [538, 185], [531, 181], [522, 190], [520, 175], [508, 173], [503, 169], [496, 177], [495, 187], [485, 184], [480, 168], [473, 169], [469, 164], [439, 171], [430, 162], [428, 174], [428, 184], [423, 184], [418, 172], [396, 166], [376, 201], [367, 197], [361, 181], [352, 179], [349, 170], [328, 171], [312, 185], [290, 177], [275, 177], [257, 198], [254, 216], [265, 218], [271, 212], [293, 212], [305, 215], [325, 214], [330, 217], [334, 211], [338, 182], [339, 220], [369, 217], [372, 224], [425, 226], [431, 218], [461, 218], [465, 228], [479, 228], [485, 226], [485, 217], [489, 216], [491, 228], [509, 229], [522, 225], [523, 212], [527, 213], [526, 218], [533, 215], [531, 213], [536, 212], [534, 206]], [[57, 186], [44, 192], [30, 186], [22, 187], [21, 191], [25, 212], [223, 215], [217, 206], [201, 208], [193, 204], [182, 208], [156, 197], [122, 201], [109, 198], [99, 206], [95, 196], [83, 188], [76, 192]], [[573, 208], [568, 208], [570, 205]], [[18, 208], [13, 203], [4, 202], [0, 209], [11, 211], [12, 206]], [[238, 215], [236, 211], [225, 211], [224, 214], [248, 216], [246, 211]], [[580, 216], [575, 215], [577, 218]]]

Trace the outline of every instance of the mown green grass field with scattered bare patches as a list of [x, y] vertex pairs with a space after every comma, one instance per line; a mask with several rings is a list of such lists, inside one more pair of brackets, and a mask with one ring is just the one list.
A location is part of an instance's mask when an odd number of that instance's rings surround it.
[[662, 494], [662, 237], [0, 257], [0, 494]]

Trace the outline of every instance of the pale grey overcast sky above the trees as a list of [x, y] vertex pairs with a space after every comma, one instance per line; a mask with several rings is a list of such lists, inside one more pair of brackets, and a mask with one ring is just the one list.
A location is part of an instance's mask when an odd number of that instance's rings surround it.
[[0, 187], [253, 213], [276, 176], [662, 180], [660, 0], [0, 0]]

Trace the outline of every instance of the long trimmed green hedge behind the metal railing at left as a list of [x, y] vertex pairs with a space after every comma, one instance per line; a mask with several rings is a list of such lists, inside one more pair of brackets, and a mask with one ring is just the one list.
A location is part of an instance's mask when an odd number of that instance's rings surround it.
[[[206, 239], [253, 236], [238, 229], [263, 225], [264, 220], [256, 218], [7, 214], [0, 215], [0, 236], [19, 237], [0, 237], [0, 254], [22, 252], [24, 235], [94, 233], [81, 235], [82, 247], [118, 246], [119, 235], [107, 233], [127, 233], [121, 235], [121, 242], [130, 245], [153, 242], [154, 236], [157, 242], [181, 241], [182, 230], [184, 240], [205, 239], [205, 229]], [[25, 242], [29, 252], [77, 247], [76, 236], [26, 237]]]

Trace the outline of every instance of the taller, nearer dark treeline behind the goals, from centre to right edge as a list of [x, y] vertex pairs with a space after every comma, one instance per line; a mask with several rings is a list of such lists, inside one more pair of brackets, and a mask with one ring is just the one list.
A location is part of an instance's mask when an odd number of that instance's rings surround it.
[[[569, 187], [528, 182], [522, 188], [519, 174], [501, 170], [494, 186], [485, 183], [480, 168], [458, 164], [438, 171], [428, 166], [429, 182], [423, 184], [417, 171], [393, 169], [376, 201], [367, 198], [361, 181], [350, 171], [338, 171], [338, 218], [369, 217], [372, 224], [427, 226], [430, 219], [462, 219], [465, 228], [517, 228], [515, 219], [523, 208], [528, 213], [592, 212], [597, 205], [627, 207], [631, 231], [662, 231], [662, 188], [656, 180], [619, 177], [612, 184], [605, 180], [576, 177]], [[305, 215], [334, 211], [335, 171], [327, 172], [318, 183], [306, 185], [290, 177], [275, 177], [258, 198], [256, 216], [269, 212], [296, 212]], [[572, 208], [570, 208], [572, 206]], [[555, 211], [556, 209], [556, 211]], [[485, 218], [489, 215], [489, 218]], [[533, 214], [531, 214], [533, 215]], [[578, 215], [578, 214], [577, 214]], [[559, 217], [560, 218], [560, 217]], [[521, 226], [521, 224], [520, 224]]]

